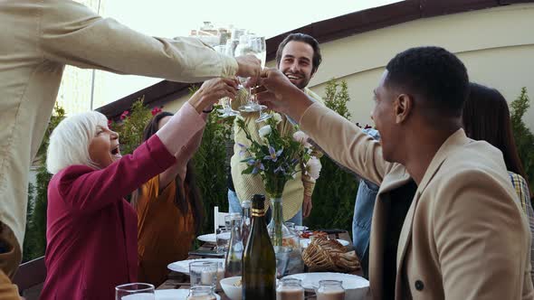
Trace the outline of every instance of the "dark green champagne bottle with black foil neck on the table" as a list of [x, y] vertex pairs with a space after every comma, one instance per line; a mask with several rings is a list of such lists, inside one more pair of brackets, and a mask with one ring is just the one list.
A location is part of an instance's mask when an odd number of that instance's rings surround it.
[[253, 196], [253, 227], [243, 253], [243, 300], [276, 299], [276, 258], [264, 203], [265, 196]]

